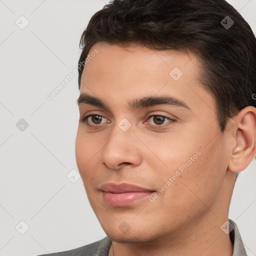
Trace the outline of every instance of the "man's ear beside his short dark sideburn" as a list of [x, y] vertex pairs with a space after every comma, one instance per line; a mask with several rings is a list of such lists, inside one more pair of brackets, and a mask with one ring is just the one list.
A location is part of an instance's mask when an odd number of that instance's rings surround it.
[[233, 145], [228, 170], [239, 172], [247, 168], [256, 155], [256, 108], [246, 106], [233, 119], [229, 130]]

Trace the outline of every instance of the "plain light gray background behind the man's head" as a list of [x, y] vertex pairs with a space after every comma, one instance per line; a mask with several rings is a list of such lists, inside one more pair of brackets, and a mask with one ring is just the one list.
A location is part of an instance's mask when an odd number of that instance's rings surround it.
[[[203, 2], [203, 1], [202, 1]], [[229, 0], [256, 31], [256, 0]], [[105, 236], [77, 170], [77, 75], [46, 98], [75, 67], [88, 20], [107, 0], [0, 0], [0, 256], [76, 248]], [[24, 25], [25, 20], [29, 24]], [[256, 91], [255, 91], [256, 93]], [[16, 123], [24, 118], [28, 127]], [[256, 255], [256, 164], [240, 174], [230, 218]], [[25, 221], [29, 229], [25, 231]], [[16, 227], [16, 228], [15, 228]]]

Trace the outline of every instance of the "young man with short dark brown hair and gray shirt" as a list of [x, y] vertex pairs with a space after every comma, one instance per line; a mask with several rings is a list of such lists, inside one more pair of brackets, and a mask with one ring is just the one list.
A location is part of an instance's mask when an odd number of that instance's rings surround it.
[[256, 39], [224, 0], [114, 0], [80, 45], [75, 153], [106, 237], [49, 255], [246, 255], [228, 220], [256, 152]]

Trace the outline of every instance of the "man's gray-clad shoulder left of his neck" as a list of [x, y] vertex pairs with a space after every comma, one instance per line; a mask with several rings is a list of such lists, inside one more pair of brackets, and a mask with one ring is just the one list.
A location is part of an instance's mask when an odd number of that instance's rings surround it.
[[111, 242], [112, 241], [106, 236], [99, 241], [83, 245], [75, 249], [54, 252], [49, 254], [41, 254], [37, 256], [108, 256], [108, 251]]

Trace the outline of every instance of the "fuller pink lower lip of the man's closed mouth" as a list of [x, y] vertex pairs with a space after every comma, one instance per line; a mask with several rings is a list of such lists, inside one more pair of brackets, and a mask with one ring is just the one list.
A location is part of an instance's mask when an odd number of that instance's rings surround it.
[[104, 200], [114, 206], [126, 206], [132, 204], [138, 200], [141, 200], [151, 193], [152, 191], [147, 192], [125, 192], [125, 193], [111, 193], [111, 192], [103, 192]]

